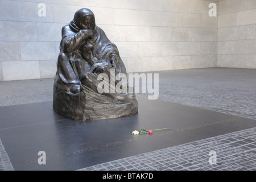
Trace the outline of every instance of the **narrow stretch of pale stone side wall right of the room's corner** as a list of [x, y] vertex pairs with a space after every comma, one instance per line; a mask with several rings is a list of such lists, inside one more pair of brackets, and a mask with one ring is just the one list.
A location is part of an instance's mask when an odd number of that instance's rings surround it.
[[256, 1], [220, 0], [218, 67], [256, 68]]

